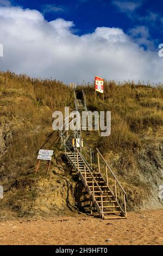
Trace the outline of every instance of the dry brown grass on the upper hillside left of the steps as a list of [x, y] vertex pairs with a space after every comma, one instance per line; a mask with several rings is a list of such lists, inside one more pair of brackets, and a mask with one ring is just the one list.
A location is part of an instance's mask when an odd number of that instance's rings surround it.
[[[53, 132], [52, 113], [72, 102], [72, 91], [62, 82], [0, 73], [0, 121], [6, 136], [10, 134], [0, 160], [1, 179], [33, 172], [37, 151]], [[54, 132], [44, 148], [54, 149], [57, 136]]]

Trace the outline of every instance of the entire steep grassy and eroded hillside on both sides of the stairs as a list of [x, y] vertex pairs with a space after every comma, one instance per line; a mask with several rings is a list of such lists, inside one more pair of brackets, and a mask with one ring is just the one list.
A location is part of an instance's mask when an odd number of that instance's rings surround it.
[[[111, 111], [111, 136], [84, 133], [87, 144], [98, 147], [127, 191], [128, 210], [160, 208], [162, 181], [162, 87], [105, 81], [105, 101], [85, 90], [90, 110]], [[0, 185], [4, 199], [0, 216], [77, 214], [89, 209], [77, 176], [60, 151], [52, 113], [74, 108], [73, 91], [62, 82], [37, 80], [26, 75], [0, 73]], [[53, 133], [52, 133], [53, 132]], [[54, 150], [53, 164], [34, 174], [38, 150]]]

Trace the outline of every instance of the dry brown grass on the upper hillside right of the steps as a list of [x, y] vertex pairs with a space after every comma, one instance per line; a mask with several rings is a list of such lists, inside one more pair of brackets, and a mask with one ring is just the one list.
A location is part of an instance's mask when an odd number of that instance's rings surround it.
[[84, 89], [87, 106], [92, 111], [111, 111], [111, 136], [99, 143], [103, 152], [142, 147], [141, 133], [163, 124], [163, 87], [143, 86], [133, 82], [104, 82], [105, 100], [95, 98], [93, 84]]

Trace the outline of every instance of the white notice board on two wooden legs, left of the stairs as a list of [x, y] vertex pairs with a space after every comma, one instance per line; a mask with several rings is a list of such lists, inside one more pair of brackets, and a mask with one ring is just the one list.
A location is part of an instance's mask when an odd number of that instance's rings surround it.
[[46, 161], [48, 161], [46, 174], [48, 174], [49, 167], [50, 167], [50, 164], [51, 164], [51, 161], [52, 161], [52, 155], [53, 155], [53, 150], [47, 150], [47, 149], [40, 149], [39, 150], [39, 155], [37, 156], [38, 162], [37, 162], [37, 167], [36, 167], [35, 173], [37, 173], [38, 170], [39, 170], [40, 160], [46, 160]]

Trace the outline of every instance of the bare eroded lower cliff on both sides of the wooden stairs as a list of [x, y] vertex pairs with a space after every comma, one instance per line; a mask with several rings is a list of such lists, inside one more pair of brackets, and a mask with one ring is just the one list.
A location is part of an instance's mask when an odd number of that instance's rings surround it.
[[[17, 165], [5, 162], [7, 161], [5, 154], [10, 151], [13, 136], [18, 135], [23, 125], [23, 119], [1, 118], [1, 185], [4, 187], [4, 198], [0, 202], [1, 218], [89, 213], [89, 196], [78, 175], [68, 165], [62, 151], [55, 149], [48, 176], [45, 175], [46, 163], [42, 163], [39, 173], [34, 174], [37, 154], [34, 156], [33, 166], [29, 168], [24, 163], [26, 172], [20, 174], [15, 173], [15, 169], [20, 168], [18, 159]], [[121, 156], [112, 153], [106, 155], [108, 163], [111, 164], [127, 192], [128, 210], [162, 208], [162, 202], [158, 197], [159, 185], [163, 184], [161, 132], [160, 129], [158, 133], [151, 134], [148, 147], [136, 152], [136, 162], [133, 162], [130, 170], [123, 169], [121, 175], [118, 173]], [[22, 163], [21, 168], [23, 168]], [[6, 167], [9, 166], [8, 173]]]

